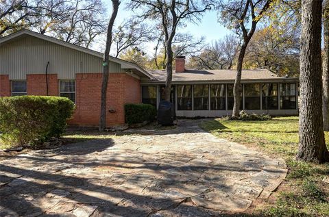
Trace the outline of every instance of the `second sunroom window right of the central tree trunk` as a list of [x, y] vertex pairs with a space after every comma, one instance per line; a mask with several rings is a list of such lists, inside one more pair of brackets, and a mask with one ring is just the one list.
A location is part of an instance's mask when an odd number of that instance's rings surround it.
[[209, 86], [195, 85], [193, 87], [193, 107], [194, 110], [209, 110]]

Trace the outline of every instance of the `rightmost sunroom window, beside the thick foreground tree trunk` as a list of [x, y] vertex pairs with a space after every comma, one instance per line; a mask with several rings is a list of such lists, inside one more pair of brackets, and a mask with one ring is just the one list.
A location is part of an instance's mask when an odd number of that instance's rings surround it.
[[280, 109], [281, 110], [296, 109], [295, 83], [280, 84]]

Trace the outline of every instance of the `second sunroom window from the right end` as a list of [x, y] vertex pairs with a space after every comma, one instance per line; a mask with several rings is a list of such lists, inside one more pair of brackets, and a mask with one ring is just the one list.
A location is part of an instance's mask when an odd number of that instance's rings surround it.
[[262, 84], [263, 110], [278, 110], [278, 84]]

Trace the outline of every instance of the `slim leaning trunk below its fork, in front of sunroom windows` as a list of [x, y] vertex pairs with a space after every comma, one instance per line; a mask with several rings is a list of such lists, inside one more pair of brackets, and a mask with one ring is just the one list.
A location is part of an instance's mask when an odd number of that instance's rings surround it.
[[234, 105], [233, 105], [233, 111], [232, 116], [239, 117], [240, 113], [240, 103], [241, 103], [241, 75], [242, 75], [242, 65], [243, 65], [243, 58], [245, 58], [245, 50], [247, 49], [247, 42], [244, 42], [238, 58], [238, 66], [236, 68], [236, 77], [234, 81], [234, 87], [233, 87], [233, 97], [234, 97]]

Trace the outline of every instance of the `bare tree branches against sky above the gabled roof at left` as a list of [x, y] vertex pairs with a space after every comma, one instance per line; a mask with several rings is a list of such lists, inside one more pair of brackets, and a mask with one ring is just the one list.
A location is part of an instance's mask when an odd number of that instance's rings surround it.
[[0, 36], [28, 28], [83, 47], [106, 29], [101, 0], [21, 0], [0, 5]]

